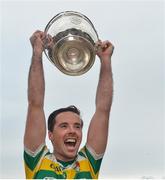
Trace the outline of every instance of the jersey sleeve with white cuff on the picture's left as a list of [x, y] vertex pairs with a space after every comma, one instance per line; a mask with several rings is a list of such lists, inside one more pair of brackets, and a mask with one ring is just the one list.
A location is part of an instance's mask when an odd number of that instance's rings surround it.
[[35, 152], [24, 148], [24, 165], [27, 179], [32, 179], [39, 168], [42, 158], [49, 152], [47, 146], [42, 144]]

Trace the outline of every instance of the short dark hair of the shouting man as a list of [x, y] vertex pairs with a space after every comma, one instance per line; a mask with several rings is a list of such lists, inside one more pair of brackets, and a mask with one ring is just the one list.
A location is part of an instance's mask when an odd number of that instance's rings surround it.
[[[51, 131], [51, 132], [53, 131], [56, 116], [62, 112], [67, 112], [67, 111], [71, 111], [71, 112], [76, 113], [80, 116], [80, 110], [74, 105], [71, 105], [71, 106], [68, 106], [65, 108], [57, 109], [57, 110], [53, 111], [48, 117], [48, 130], [49, 131]], [[81, 123], [83, 126], [82, 119], [81, 119]]]

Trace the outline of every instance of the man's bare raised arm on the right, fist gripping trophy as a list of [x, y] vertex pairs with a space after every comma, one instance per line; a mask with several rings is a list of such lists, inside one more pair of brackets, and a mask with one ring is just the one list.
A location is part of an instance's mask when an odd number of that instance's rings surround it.
[[98, 57], [101, 61], [96, 93], [96, 111], [90, 122], [87, 145], [97, 154], [103, 154], [107, 145], [109, 114], [113, 96], [111, 56], [113, 45], [109, 41], [99, 42]]

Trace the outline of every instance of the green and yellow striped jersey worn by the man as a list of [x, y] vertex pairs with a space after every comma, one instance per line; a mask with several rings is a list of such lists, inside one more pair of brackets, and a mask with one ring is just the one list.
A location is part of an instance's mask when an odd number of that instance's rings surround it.
[[102, 157], [84, 146], [75, 160], [63, 162], [42, 145], [35, 154], [25, 149], [25, 174], [27, 179], [98, 179]]

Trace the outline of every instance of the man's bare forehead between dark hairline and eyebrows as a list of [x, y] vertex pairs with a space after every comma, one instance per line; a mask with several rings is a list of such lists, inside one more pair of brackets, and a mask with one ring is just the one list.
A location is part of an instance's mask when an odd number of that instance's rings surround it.
[[74, 112], [61, 112], [56, 116], [56, 123], [63, 123], [63, 122], [68, 122], [68, 123], [80, 123], [81, 119], [80, 116]]

